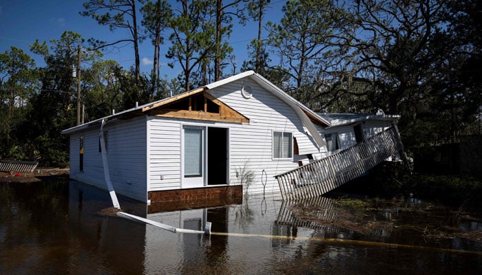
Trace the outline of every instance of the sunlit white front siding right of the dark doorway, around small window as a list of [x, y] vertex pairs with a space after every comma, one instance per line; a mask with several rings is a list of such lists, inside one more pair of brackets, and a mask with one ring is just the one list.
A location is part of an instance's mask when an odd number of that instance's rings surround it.
[[[251, 87], [251, 98], [242, 96], [243, 85]], [[292, 133], [293, 148], [293, 136], [304, 135], [302, 122], [295, 111], [250, 79], [227, 83], [208, 90], [208, 93], [249, 118], [249, 124], [229, 126], [230, 184], [240, 184], [236, 170], [246, 166], [255, 175], [253, 183], [249, 186], [249, 193], [279, 192], [274, 176], [296, 168], [298, 164], [293, 159], [293, 151], [289, 159], [273, 158], [273, 132]], [[263, 170], [267, 177], [262, 177]], [[266, 183], [266, 187], [263, 183]]]

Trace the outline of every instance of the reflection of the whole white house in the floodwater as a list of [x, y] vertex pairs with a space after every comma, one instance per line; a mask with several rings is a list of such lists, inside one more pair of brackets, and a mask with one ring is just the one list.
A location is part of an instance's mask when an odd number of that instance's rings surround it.
[[[88, 243], [92, 251], [100, 252], [100, 255], [88, 254], [74, 260], [79, 265], [88, 261], [92, 266], [105, 266], [119, 273], [128, 270], [137, 274], [196, 274], [201, 270], [217, 274], [259, 274], [277, 270], [280, 259], [291, 259], [300, 249], [317, 247], [310, 241], [311, 237], [339, 233], [333, 226], [319, 230], [321, 227], [311, 228], [306, 221], [293, 223], [295, 218], [290, 212], [293, 205], [273, 197], [250, 196], [241, 204], [149, 214], [144, 203], [120, 198], [125, 212], [176, 228], [203, 231], [205, 223], [211, 221], [211, 232], [267, 237], [205, 236], [173, 233], [116, 217], [108, 211], [104, 213], [102, 210], [109, 209], [112, 203], [107, 193], [92, 186], [72, 181], [69, 192], [70, 226], [81, 231], [84, 245]], [[318, 207], [325, 209], [326, 217], [330, 217], [333, 209], [330, 199], [322, 199]]]

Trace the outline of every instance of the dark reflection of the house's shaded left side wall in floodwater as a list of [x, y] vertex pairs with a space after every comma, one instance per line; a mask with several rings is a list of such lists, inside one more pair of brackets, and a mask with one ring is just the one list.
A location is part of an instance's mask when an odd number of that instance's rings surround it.
[[[129, 211], [138, 215], [144, 212], [145, 216], [143, 204], [121, 203]], [[67, 240], [71, 250], [67, 253], [75, 272], [143, 273], [145, 225], [109, 214], [111, 208], [112, 201], [105, 191], [70, 181], [68, 227], [72, 236]]]

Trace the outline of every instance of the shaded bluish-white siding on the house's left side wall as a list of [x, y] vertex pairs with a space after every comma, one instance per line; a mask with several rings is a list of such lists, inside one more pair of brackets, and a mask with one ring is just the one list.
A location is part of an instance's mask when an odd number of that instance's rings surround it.
[[[121, 121], [104, 126], [109, 133], [107, 162], [109, 175], [118, 194], [147, 201], [146, 190], [146, 127], [145, 117]], [[95, 128], [94, 128], [95, 127]], [[98, 153], [98, 133], [101, 125], [82, 133], [84, 142], [83, 172], [78, 171], [80, 135], [71, 135], [71, 161], [76, 163], [70, 177], [107, 189], [104, 178], [102, 155]], [[72, 146], [73, 145], [73, 146]], [[72, 151], [75, 148], [75, 151]], [[71, 164], [72, 167], [72, 164]]]

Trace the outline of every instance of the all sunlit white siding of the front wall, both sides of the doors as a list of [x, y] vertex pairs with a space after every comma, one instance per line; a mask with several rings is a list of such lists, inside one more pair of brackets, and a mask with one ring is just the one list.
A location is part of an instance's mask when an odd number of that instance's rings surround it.
[[[242, 85], [251, 87], [252, 97], [241, 94]], [[252, 80], [244, 79], [227, 83], [208, 93], [249, 118], [247, 123], [206, 122], [176, 118], [147, 118], [148, 129], [148, 190], [180, 189], [181, 171], [181, 130], [182, 124], [200, 124], [229, 128], [229, 185], [240, 184], [236, 170], [245, 167], [255, 174], [249, 193], [278, 193], [275, 175], [297, 167], [297, 160], [273, 159], [273, 131], [305, 135], [302, 123], [295, 111], [279, 98], [264, 90]], [[262, 171], [267, 177], [261, 179]], [[263, 186], [263, 183], [266, 186]]]

